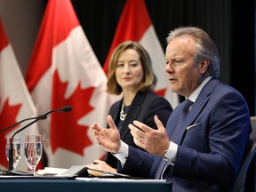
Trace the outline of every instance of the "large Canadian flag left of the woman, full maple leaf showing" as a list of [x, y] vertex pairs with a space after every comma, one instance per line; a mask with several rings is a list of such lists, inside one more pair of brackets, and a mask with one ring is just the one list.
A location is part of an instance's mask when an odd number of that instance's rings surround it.
[[90, 125], [106, 126], [116, 98], [106, 93], [107, 77], [70, 0], [48, 1], [26, 81], [38, 113], [72, 107], [39, 124], [49, 166], [69, 168], [105, 155]]

